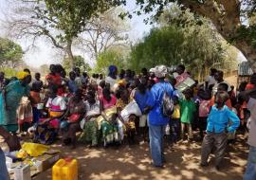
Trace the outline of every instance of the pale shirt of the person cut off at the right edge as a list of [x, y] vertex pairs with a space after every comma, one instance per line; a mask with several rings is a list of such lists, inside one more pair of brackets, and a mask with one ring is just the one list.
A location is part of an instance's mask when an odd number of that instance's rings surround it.
[[249, 134], [247, 143], [256, 147], [256, 99], [250, 98], [247, 103], [247, 109], [250, 111]]

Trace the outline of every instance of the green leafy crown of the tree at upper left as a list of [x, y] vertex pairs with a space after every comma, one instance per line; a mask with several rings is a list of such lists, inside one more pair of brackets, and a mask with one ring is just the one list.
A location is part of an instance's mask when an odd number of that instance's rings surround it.
[[45, 2], [46, 9], [37, 7], [40, 18], [51, 27], [64, 31], [59, 35], [63, 41], [72, 41], [83, 30], [92, 17], [112, 7], [119, 6], [118, 0], [41, 0]]

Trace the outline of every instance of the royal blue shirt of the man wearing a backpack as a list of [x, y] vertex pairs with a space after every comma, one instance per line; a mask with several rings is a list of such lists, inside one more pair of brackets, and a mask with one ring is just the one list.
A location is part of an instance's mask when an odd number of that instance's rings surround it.
[[169, 122], [169, 117], [164, 117], [161, 110], [164, 92], [173, 97], [174, 88], [171, 83], [160, 81], [151, 88], [150, 96], [147, 100], [147, 105], [153, 107], [149, 113], [149, 123], [151, 125], [166, 125]]

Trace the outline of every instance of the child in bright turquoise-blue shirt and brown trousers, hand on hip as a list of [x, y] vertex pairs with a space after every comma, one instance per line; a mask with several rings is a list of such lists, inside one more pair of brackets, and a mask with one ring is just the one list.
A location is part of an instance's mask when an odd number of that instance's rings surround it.
[[213, 146], [215, 146], [215, 168], [217, 171], [219, 171], [227, 147], [227, 130], [232, 133], [240, 124], [239, 118], [225, 105], [228, 99], [229, 94], [227, 92], [217, 92], [215, 104], [212, 106], [208, 117], [207, 135], [202, 144], [201, 166], [209, 165], [208, 158]]

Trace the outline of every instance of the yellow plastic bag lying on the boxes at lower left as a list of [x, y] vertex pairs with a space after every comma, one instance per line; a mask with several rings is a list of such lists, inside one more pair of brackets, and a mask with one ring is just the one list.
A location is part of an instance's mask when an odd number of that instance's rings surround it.
[[25, 142], [22, 145], [22, 150], [28, 153], [32, 157], [37, 157], [46, 153], [49, 150], [49, 146], [37, 143]]

